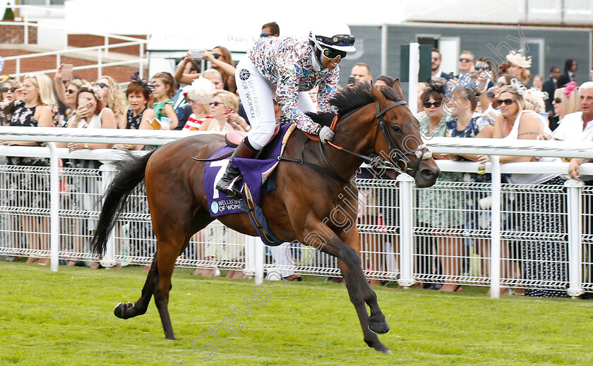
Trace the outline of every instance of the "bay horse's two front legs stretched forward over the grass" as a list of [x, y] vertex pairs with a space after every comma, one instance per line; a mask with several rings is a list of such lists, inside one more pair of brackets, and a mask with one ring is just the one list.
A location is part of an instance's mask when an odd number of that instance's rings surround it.
[[[325, 226], [316, 218], [307, 221], [309, 223], [307, 225], [309, 229], [305, 229], [306, 235], [302, 242], [333, 255], [339, 260], [350, 301], [354, 305], [354, 309], [357, 311], [359, 317], [364, 341], [375, 350], [391, 353], [389, 348], [385, 347], [376, 335], [376, 333], [388, 332], [389, 326], [377, 303], [375, 291], [369, 286], [369, 282], [366, 281], [359, 253], [352, 248], [356, 245], [347, 245], [344, 243], [328, 226]], [[346, 236], [347, 238], [354, 238], [358, 235], [356, 228], [352, 228], [351, 231], [354, 231], [354, 233]], [[366, 304], [371, 308], [371, 317], [366, 312]]]

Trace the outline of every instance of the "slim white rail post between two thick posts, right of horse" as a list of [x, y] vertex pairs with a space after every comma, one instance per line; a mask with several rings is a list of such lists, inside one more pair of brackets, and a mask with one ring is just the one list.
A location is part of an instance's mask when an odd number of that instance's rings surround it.
[[492, 176], [490, 298], [501, 298], [501, 161], [497, 155], [489, 155], [489, 158]]

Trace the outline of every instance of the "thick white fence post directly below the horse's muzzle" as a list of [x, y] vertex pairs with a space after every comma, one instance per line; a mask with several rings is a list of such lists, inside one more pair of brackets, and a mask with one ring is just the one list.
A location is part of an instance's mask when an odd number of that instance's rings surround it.
[[400, 183], [400, 279], [397, 281], [401, 286], [409, 287], [416, 283], [412, 276], [414, 257], [413, 244], [413, 223], [414, 207], [412, 198], [414, 192], [414, 178], [407, 174], [397, 176]]

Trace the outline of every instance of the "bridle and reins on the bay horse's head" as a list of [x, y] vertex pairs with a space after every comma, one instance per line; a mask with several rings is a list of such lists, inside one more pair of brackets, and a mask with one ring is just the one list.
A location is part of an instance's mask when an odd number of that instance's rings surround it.
[[[393, 138], [391, 137], [391, 135], [389, 133], [387, 123], [385, 123], [385, 119], [383, 118], [383, 116], [390, 109], [393, 109], [396, 106], [401, 106], [404, 104], [407, 104], [407, 102], [405, 100], [400, 100], [398, 102], [390, 104], [390, 105], [386, 106], [385, 108], [381, 109], [381, 106], [377, 102], [375, 103], [376, 111], [377, 111], [375, 114], [375, 118], [377, 120], [377, 129], [375, 130], [375, 137], [373, 138], [373, 147], [374, 147], [375, 151], [377, 150], [376, 144], [377, 144], [377, 138], [379, 135], [379, 130], [381, 130], [383, 132], [383, 137], [385, 138], [385, 141], [387, 142], [387, 147], [388, 147], [389, 152], [393, 153], [393, 151], [395, 149], [397, 149], [395, 141], [393, 140]], [[337, 116], [335, 116], [334, 120], [332, 121], [332, 126], [330, 127], [332, 130], [334, 130], [336, 122], [337, 122]], [[381, 162], [383, 161], [383, 159], [381, 159], [381, 157], [369, 157], [369, 156], [366, 156], [363, 154], [358, 154], [357, 152], [352, 152], [352, 151], [346, 150], [343, 147], [337, 146], [331, 141], [328, 142], [328, 145], [335, 147], [337, 150], [342, 150], [343, 152], [347, 152], [347, 153], [355, 155], [361, 159], [364, 159], [364, 161], [367, 161], [369, 163], [369, 165], [371, 165], [375, 168], [377, 168], [378, 165], [381, 164]], [[322, 149], [322, 152], [323, 152], [323, 149]], [[396, 154], [397, 161], [395, 161], [395, 166], [393, 166], [393, 168], [398, 169], [400, 171], [400, 173], [406, 173], [407, 171], [413, 170], [412, 168], [409, 168], [407, 166], [407, 159], [404, 159], [406, 157], [406, 155], [412, 155], [412, 154], [416, 155], [416, 157], [418, 159], [422, 159], [422, 160], [430, 159], [432, 157], [432, 152], [431, 152], [430, 148], [427, 147], [425, 144], [418, 145], [418, 148], [416, 150], [411, 150], [411, 151], [407, 151], [407, 152], [402, 152], [402, 151], [398, 150], [398, 154]], [[326, 159], [326, 161], [327, 161], [327, 159]], [[391, 162], [391, 161], [389, 161], [389, 162]], [[403, 164], [403, 167], [400, 167], [400, 163]], [[416, 166], [417, 170], [418, 170], [418, 166], [419, 166], [419, 164], [417, 164], [417, 166]]]

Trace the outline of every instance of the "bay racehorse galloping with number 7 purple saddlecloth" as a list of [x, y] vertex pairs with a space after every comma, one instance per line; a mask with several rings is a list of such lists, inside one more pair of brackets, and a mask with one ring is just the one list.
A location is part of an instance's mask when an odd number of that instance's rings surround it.
[[[298, 240], [338, 258], [364, 341], [375, 350], [391, 353], [377, 336], [388, 332], [389, 325], [361, 267], [359, 232], [355, 225], [343, 225], [346, 221], [356, 223], [359, 204], [357, 197], [346, 194], [346, 190], [356, 196], [352, 177], [373, 153], [414, 176], [418, 187], [433, 185], [441, 171], [421, 140], [419, 123], [403, 99], [399, 80], [393, 88], [381, 87], [381, 90], [367, 83], [345, 88], [335, 94], [330, 104], [338, 111], [333, 146], [313, 142], [296, 129], [283, 156], [304, 159], [309, 164], [280, 161], [275, 171], [276, 189], [263, 195], [261, 208], [270, 231], [278, 239]], [[309, 116], [327, 126], [335, 113]], [[203, 184], [205, 163], [191, 158], [208, 159], [224, 143], [222, 135], [191, 136], [170, 142], [143, 157], [126, 159], [119, 166], [119, 172], [104, 193], [100, 219], [91, 240], [92, 250], [98, 255], [105, 251], [109, 232], [126, 199], [144, 180], [157, 251], [142, 295], [136, 303], [119, 303], [114, 310], [116, 317], [143, 315], [154, 295], [165, 338], [175, 339], [168, 310], [175, 261], [193, 234], [214, 220], [208, 211]], [[340, 204], [342, 209], [335, 210]], [[239, 233], [257, 236], [246, 213], [217, 219]]]

